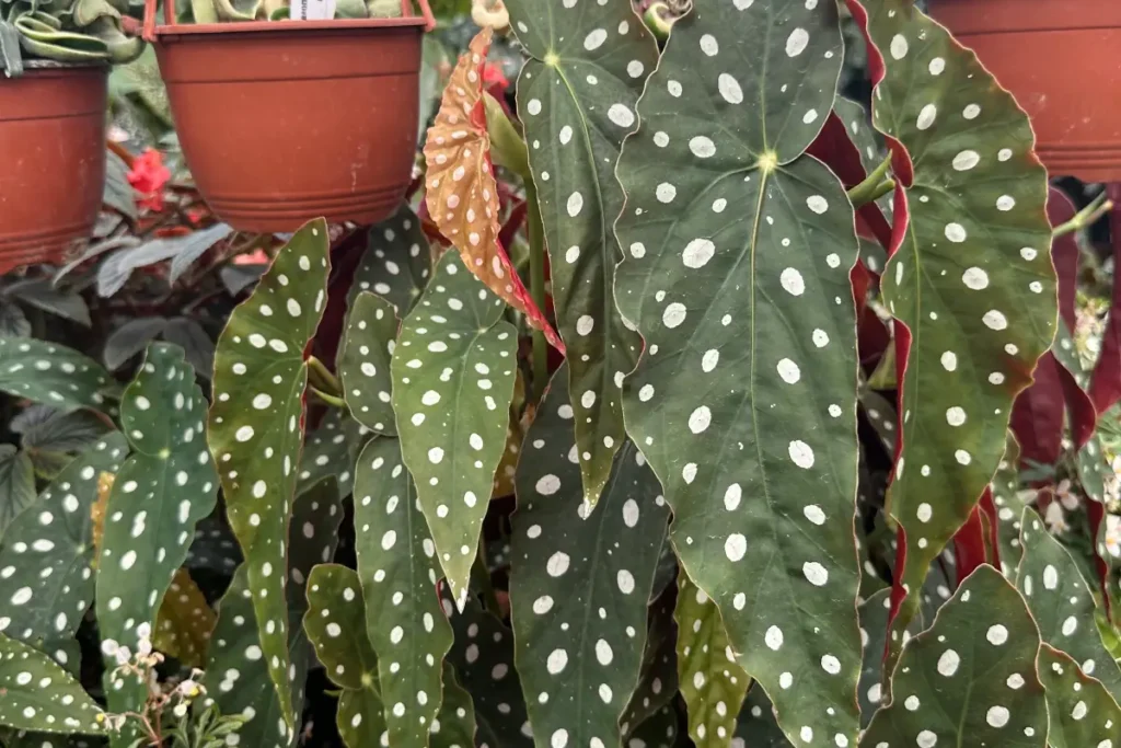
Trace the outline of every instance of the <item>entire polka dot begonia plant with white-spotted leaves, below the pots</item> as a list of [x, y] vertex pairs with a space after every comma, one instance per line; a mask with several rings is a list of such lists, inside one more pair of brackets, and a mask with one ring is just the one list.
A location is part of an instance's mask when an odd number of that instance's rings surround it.
[[0, 336], [0, 744], [1121, 748], [1121, 372], [1012, 95], [914, 0], [504, 10], [213, 371]]

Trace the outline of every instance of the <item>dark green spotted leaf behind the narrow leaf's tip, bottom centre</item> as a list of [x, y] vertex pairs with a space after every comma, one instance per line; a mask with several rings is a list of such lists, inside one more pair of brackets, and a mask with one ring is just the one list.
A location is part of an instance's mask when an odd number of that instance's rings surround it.
[[575, 746], [615, 745], [642, 666], [668, 512], [658, 479], [629, 442], [599, 504], [587, 504], [567, 375], [562, 368], [554, 376], [518, 464], [516, 659], [538, 746], [558, 736]]

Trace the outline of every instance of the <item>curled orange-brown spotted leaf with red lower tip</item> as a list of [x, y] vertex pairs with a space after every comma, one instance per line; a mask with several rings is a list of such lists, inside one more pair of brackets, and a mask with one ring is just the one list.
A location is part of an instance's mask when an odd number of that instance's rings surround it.
[[493, 29], [487, 27], [471, 40], [444, 89], [424, 147], [428, 165], [425, 198], [433, 221], [471, 273], [563, 350], [499, 241], [498, 183], [482, 99], [483, 66], [492, 35]]

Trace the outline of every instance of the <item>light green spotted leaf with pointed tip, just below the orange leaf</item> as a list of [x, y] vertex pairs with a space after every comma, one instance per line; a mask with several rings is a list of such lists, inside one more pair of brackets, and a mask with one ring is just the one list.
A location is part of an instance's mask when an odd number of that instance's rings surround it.
[[445, 252], [390, 367], [401, 453], [461, 607], [513, 397], [518, 341], [504, 308]]

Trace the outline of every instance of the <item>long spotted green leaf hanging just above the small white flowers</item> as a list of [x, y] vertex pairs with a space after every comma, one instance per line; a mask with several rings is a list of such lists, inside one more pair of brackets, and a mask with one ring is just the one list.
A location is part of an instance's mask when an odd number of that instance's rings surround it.
[[[118, 647], [149, 638], [156, 611], [187, 557], [195, 524], [214, 509], [217, 475], [206, 450], [206, 399], [183, 351], [148, 349], [121, 399], [121, 431], [132, 454], [117, 473], [104, 514], [98, 556], [96, 610], [102, 652], [115, 667]], [[141, 625], [147, 637], [140, 635]], [[113, 678], [113, 712], [139, 710], [147, 685]]]

